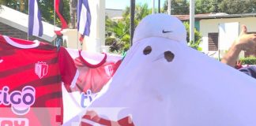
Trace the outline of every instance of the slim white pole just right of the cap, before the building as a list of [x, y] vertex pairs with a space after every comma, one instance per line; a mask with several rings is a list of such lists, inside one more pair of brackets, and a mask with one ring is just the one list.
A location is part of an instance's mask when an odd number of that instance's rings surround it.
[[190, 0], [190, 41], [194, 42], [194, 0]]

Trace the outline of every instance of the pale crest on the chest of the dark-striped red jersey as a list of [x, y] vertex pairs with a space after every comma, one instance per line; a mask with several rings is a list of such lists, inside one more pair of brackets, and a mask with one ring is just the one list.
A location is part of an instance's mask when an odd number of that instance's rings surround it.
[[48, 72], [48, 65], [46, 64], [46, 62], [43, 61], [38, 61], [35, 64], [35, 73], [36, 75], [42, 79], [43, 76], [46, 76]]

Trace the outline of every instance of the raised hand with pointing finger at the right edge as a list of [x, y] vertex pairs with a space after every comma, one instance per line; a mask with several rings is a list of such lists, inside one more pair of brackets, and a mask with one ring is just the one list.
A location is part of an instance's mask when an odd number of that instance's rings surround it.
[[235, 39], [235, 46], [239, 50], [256, 50], [256, 34], [247, 34], [247, 27], [242, 25], [239, 38]]

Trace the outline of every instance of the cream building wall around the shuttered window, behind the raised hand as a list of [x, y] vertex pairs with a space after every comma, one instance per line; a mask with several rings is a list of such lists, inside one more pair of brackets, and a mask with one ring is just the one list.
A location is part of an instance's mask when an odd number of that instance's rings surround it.
[[[256, 31], [256, 17], [239, 17], [239, 18], [222, 18], [222, 19], [203, 19], [200, 20], [200, 32], [202, 35], [202, 43], [201, 47], [205, 54], [214, 54], [213, 57], [218, 57], [218, 53], [216, 51], [208, 50], [208, 33], [211, 32], [219, 32], [219, 24], [220, 23], [229, 23], [229, 22], [239, 22], [239, 24], [247, 25], [248, 32]], [[240, 31], [240, 29], [239, 29]], [[231, 45], [230, 45], [231, 46]], [[220, 52], [223, 55], [224, 52]]]

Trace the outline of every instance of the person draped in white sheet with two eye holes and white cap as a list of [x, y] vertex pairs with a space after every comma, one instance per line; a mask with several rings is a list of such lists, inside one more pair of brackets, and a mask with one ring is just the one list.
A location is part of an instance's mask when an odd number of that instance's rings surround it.
[[255, 126], [256, 80], [186, 46], [182, 22], [145, 17], [84, 124]]

